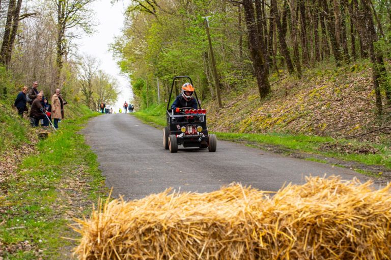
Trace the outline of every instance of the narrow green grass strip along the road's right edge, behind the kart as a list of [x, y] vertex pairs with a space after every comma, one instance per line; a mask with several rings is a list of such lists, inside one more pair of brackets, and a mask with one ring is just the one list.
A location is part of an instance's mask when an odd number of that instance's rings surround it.
[[[142, 121], [160, 126], [166, 124], [165, 119], [166, 106], [152, 106], [149, 109], [138, 111], [134, 115]], [[366, 165], [382, 165], [391, 169], [391, 150], [387, 145], [371, 145], [376, 148], [375, 154], [364, 153], [344, 153], [338, 150], [321, 149], [324, 144], [346, 145], [352, 148], [368, 146], [367, 143], [359, 143], [352, 140], [336, 140], [331, 137], [309, 136], [309, 135], [288, 135], [280, 133], [270, 134], [239, 134], [239, 133], [219, 133], [218, 139], [227, 141], [247, 141], [259, 145], [272, 145], [283, 149], [289, 149], [292, 152], [300, 151], [305, 153], [322, 154], [324, 156], [335, 157], [346, 161], [357, 161]], [[289, 153], [290, 151], [286, 151]]]

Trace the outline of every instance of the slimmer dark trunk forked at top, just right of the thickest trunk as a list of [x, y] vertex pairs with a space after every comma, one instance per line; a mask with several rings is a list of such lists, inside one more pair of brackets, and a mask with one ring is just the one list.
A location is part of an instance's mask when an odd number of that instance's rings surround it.
[[[277, 9], [277, 0], [271, 0], [271, 6], [273, 7], [273, 11], [275, 12], [275, 25], [278, 30], [278, 42], [280, 43], [280, 51], [284, 56], [285, 62], [287, 63], [287, 68], [290, 74], [295, 72], [293, 68], [291, 55], [289, 54], [288, 45], [286, 42], [286, 32], [287, 32], [287, 23], [286, 21], [286, 11], [283, 11], [283, 24], [281, 24], [280, 16], [278, 15]], [[270, 9], [271, 10], [271, 9]]]

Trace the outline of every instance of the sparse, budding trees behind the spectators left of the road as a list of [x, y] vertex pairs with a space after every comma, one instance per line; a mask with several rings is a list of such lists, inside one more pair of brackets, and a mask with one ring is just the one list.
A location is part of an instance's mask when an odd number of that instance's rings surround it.
[[[60, 87], [67, 101], [81, 101], [91, 109], [97, 109], [98, 100], [115, 102], [118, 83], [99, 70], [96, 57], [78, 54], [73, 41], [84, 32], [93, 32], [92, 2], [0, 1], [0, 22], [5, 24], [0, 30], [0, 62], [13, 75], [17, 88], [38, 81], [50, 96]], [[88, 61], [95, 64], [91, 75], [86, 74]]]

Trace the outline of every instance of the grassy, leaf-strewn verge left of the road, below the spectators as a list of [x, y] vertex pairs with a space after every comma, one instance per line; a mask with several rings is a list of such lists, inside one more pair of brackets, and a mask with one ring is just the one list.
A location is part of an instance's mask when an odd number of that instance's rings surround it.
[[[17, 250], [5, 254], [5, 259], [36, 259], [37, 250], [43, 250], [44, 259], [63, 259], [60, 248], [72, 242], [61, 238], [74, 235], [68, 224], [66, 213], [72, 208], [72, 200], [81, 200], [83, 213], [89, 213], [91, 205], [104, 190], [104, 178], [98, 169], [96, 155], [77, 132], [93, 116], [88, 109], [79, 110], [85, 116], [63, 120], [57, 133], [37, 144], [38, 155], [26, 157], [18, 168], [17, 178], [8, 183], [8, 193], [0, 197], [0, 241], [5, 245], [15, 245], [29, 241], [34, 250]], [[75, 174], [82, 172], [87, 186], [76, 185]], [[73, 186], [76, 185], [76, 186]], [[77, 192], [77, 197], [74, 193]], [[76, 204], [77, 205], [77, 204]], [[2, 211], [0, 211], [2, 212]], [[80, 217], [78, 215], [78, 217]]]

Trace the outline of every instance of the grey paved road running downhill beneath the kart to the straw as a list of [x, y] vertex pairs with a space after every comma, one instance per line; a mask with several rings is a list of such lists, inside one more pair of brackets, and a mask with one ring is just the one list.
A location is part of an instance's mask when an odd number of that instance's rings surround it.
[[168, 187], [207, 192], [232, 182], [276, 191], [284, 183], [301, 184], [310, 174], [362, 177], [349, 169], [219, 140], [216, 152], [179, 146], [178, 153], [170, 153], [163, 148], [162, 132], [131, 114], [105, 114], [89, 121], [82, 133], [98, 155], [114, 197], [141, 199]]

